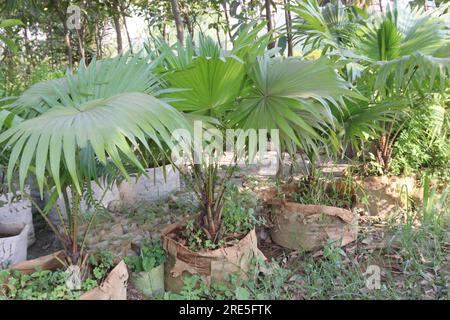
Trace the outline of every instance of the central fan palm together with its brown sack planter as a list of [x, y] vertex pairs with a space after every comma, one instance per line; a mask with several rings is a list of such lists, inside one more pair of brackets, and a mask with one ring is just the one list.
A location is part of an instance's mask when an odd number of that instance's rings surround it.
[[[339, 104], [342, 95], [353, 94], [326, 60], [284, 59], [273, 56], [274, 51], [266, 52], [270, 35], [258, 38], [259, 28], [245, 30], [231, 52], [221, 51], [206, 38], [195, 49], [163, 48], [165, 81], [171, 88], [184, 89], [167, 95], [171, 104], [192, 117], [213, 117], [217, 131], [241, 129], [233, 140], [241, 141], [240, 147], [233, 150], [233, 161], [225, 170], [221, 170], [220, 153], [200, 156], [204, 160], [200, 163], [194, 159], [198, 150], [189, 154], [192, 170], [185, 178], [199, 200], [199, 214], [163, 230], [167, 290], [179, 291], [185, 274], [199, 274], [209, 282], [227, 282], [231, 274], [245, 279], [251, 259], [261, 255], [254, 224], [233, 233], [233, 223], [227, 228], [224, 222], [233, 221], [242, 210], [245, 217], [251, 214], [249, 208], [229, 209], [226, 204], [237, 160], [252, 159], [256, 153], [245, 132], [266, 130], [261, 140], [267, 141], [272, 130], [272, 140], [279, 138], [283, 148], [315, 149], [321, 140], [317, 132], [326, 131], [334, 121], [328, 103]], [[200, 245], [189, 245], [193, 240]]]

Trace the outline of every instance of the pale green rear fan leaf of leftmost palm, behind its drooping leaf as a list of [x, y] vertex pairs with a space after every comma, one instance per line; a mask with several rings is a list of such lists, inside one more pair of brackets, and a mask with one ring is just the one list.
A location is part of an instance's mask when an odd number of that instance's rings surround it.
[[155, 95], [159, 80], [151, 72], [154, 66], [147, 59], [130, 54], [100, 61], [93, 59], [87, 67], [82, 61], [75, 74], [37, 83], [7, 108], [16, 114], [24, 113], [25, 118], [33, 118], [53, 106], [73, 106], [123, 92]]

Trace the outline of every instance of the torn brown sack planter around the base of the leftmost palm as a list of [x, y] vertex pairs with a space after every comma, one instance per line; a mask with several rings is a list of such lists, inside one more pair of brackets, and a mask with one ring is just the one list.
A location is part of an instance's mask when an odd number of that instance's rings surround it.
[[[58, 261], [63, 259], [63, 251], [43, 256], [33, 260], [23, 261], [11, 267], [12, 270], [31, 274], [37, 267], [43, 270], [56, 270], [62, 265]], [[80, 296], [80, 300], [126, 300], [127, 299], [128, 270], [125, 262], [120, 261], [108, 274], [103, 283]]]

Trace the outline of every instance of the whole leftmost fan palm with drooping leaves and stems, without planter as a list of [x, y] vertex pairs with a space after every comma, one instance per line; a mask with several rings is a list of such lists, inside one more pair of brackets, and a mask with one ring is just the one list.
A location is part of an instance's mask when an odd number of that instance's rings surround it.
[[[0, 144], [10, 152], [10, 188], [17, 174], [24, 193], [25, 178], [32, 175], [41, 196], [44, 190], [51, 193], [47, 207], [55, 206], [62, 227], [58, 230], [45, 209], [38, 210], [61, 240], [67, 265], [86, 262], [78, 215], [91, 181], [98, 181], [104, 168], [116, 168], [125, 178], [130, 167], [145, 174], [140, 150], [170, 147], [172, 131], [189, 129], [179, 111], [148, 94], [156, 88], [148, 68], [135, 58], [94, 61], [74, 75], [30, 88], [11, 107], [27, 119], [0, 134]], [[65, 201], [65, 213], [58, 197]]]

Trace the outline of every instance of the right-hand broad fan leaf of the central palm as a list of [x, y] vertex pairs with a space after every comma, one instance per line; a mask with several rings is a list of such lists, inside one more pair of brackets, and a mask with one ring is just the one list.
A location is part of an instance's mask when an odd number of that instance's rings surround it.
[[350, 91], [325, 60], [258, 59], [249, 74], [251, 92], [230, 114], [230, 123], [245, 129], [279, 129], [287, 145], [291, 141], [307, 150], [317, 150], [333, 126], [329, 104], [342, 96], [361, 98]]

